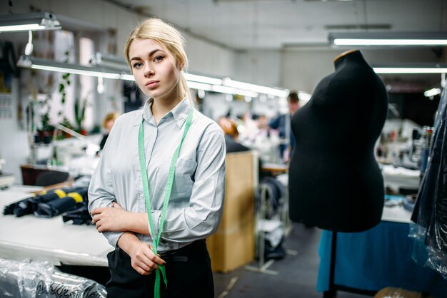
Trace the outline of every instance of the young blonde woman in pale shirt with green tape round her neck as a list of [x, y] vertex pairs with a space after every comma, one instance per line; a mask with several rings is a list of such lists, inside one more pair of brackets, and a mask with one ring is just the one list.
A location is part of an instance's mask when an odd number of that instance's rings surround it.
[[116, 247], [108, 297], [214, 297], [205, 238], [224, 207], [224, 135], [194, 109], [174, 27], [147, 19], [125, 55], [149, 99], [115, 121], [89, 187], [96, 229]]

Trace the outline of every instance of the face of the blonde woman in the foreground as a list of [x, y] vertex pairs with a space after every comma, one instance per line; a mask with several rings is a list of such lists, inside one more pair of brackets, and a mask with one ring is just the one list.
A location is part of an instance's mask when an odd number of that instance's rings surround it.
[[132, 73], [141, 91], [155, 101], [181, 101], [174, 56], [154, 39], [134, 39], [129, 47]]

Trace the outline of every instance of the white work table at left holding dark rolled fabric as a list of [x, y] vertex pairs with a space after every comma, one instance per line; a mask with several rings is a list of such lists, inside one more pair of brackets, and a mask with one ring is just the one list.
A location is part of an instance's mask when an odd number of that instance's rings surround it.
[[0, 257], [11, 260], [39, 259], [51, 264], [107, 266], [107, 253], [114, 250], [94, 225], [72, 225], [61, 215], [3, 215], [5, 205], [30, 197], [36, 187], [13, 186], [0, 191]]

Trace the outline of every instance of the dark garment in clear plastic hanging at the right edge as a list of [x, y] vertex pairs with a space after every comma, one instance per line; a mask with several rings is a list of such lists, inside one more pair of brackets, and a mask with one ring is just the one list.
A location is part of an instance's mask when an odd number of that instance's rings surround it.
[[427, 168], [411, 220], [418, 225], [413, 258], [447, 279], [447, 93], [441, 96]]

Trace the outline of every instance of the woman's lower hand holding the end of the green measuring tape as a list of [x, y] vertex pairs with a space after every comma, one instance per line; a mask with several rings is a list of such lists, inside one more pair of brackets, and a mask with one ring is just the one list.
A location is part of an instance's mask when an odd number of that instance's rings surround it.
[[129, 252], [132, 259], [132, 268], [139, 274], [149, 275], [154, 270], [159, 269], [159, 264], [166, 264], [161, 257], [154, 254], [152, 246], [148, 243], [140, 242], [139, 245], [134, 245]]

